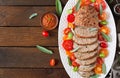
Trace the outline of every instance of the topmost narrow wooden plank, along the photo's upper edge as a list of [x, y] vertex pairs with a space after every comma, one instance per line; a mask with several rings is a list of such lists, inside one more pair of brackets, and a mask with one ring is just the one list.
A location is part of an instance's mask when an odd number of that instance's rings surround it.
[[[61, 0], [65, 4], [68, 0]], [[55, 5], [55, 0], [0, 0], [0, 5]]]

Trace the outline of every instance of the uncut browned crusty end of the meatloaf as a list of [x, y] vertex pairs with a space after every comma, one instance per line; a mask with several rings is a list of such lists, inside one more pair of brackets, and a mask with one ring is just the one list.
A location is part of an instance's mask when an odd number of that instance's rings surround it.
[[81, 6], [75, 16], [75, 25], [98, 27], [98, 12], [93, 6]]

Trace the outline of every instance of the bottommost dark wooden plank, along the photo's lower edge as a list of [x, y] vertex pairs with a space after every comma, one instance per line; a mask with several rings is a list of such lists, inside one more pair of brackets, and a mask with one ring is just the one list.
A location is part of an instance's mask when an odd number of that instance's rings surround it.
[[0, 69], [0, 78], [69, 78], [64, 69]]

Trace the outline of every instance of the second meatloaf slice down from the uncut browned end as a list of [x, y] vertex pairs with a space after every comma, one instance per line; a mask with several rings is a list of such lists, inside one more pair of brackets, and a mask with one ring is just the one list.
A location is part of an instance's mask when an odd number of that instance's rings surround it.
[[80, 38], [77, 36], [73, 36], [73, 41], [80, 45], [86, 45], [86, 44], [92, 44], [95, 43], [98, 40], [98, 37], [93, 38]]

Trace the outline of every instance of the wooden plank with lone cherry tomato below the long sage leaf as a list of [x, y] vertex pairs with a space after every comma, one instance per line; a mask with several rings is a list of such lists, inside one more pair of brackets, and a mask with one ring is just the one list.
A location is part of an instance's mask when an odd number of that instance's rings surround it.
[[[57, 47], [47, 47], [53, 55], [40, 52], [36, 47], [0, 47], [0, 67], [20, 68], [63, 68]], [[51, 67], [49, 60], [56, 59], [56, 66]]]

